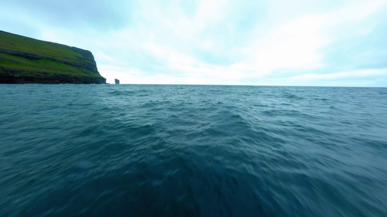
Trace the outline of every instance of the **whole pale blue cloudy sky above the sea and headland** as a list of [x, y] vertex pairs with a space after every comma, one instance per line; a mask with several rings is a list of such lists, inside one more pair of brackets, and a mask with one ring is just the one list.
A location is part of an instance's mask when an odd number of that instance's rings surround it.
[[386, 0], [1, 0], [0, 30], [114, 83], [387, 87]]

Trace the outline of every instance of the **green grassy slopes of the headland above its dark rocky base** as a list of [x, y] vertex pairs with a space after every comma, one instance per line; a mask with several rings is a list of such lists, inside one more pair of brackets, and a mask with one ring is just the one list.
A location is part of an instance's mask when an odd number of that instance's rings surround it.
[[[23, 58], [24, 54], [31, 55], [38, 60]], [[45, 77], [67, 74], [103, 78], [86, 69], [95, 66], [93, 61], [63, 44], [0, 31], [0, 74]]]

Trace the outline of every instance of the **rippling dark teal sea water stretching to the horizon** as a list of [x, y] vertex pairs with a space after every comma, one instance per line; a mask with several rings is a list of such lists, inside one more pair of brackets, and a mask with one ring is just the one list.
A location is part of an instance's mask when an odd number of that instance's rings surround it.
[[387, 216], [387, 88], [0, 85], [0, 216]]

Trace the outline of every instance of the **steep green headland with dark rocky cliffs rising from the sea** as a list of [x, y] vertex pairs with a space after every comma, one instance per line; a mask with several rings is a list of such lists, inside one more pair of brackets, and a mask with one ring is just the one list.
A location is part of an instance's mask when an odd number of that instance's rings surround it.
[[105, 84], [90, 51], [0, 31], [0, 83]]

